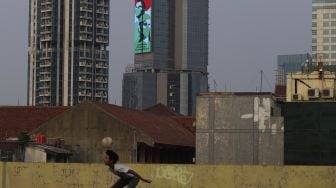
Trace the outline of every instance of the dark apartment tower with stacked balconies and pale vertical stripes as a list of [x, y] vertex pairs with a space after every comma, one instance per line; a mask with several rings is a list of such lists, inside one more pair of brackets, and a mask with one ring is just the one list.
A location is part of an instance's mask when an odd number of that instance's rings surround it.
[[28, 105], [108, 102], [109, 0], [30, 0]]

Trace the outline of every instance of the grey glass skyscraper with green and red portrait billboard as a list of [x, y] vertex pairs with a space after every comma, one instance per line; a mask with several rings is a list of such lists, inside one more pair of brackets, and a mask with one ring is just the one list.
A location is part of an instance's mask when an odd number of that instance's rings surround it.
[[134, 0], [134, 64], [123, 78], [123, 106], [162, 103], [195, 114], [208, 91], [208, 0]]

